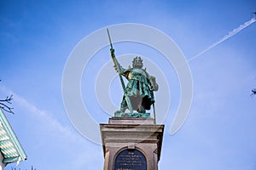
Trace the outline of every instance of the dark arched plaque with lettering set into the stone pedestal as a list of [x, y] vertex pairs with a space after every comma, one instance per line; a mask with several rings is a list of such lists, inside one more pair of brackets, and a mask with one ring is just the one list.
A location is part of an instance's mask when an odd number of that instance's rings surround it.
[[147, 159], [140, 150], [122, 150], [114, 160], [114, 170], [147, 170]]

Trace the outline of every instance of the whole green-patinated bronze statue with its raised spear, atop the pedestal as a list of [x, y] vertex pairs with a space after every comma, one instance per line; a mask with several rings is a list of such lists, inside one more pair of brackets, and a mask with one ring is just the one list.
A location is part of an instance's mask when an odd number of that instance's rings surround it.
[[[124, 90], [120, 111], [116, 111], [114, 116], [150, 116], [150, 113], [146, 113], [146, 110], [150, 110], [151, 105], [154, 106], [154, 91], [158, 90], [158, 84], [155, 81], [155, 77], [149, 76], [146, 68], [143, 69], [143, 59], [141, 57], [135, 57], [132, 61], [132, 67], [129, 66], [128, 69], [124, 69], [119, 65], [119, 62], [114, 55], [109, 32], [108, 37], [111, 46], [110, 52], [113, 59], [113, 65], [115, 70], [119, 73], [119, 78]], [[129, 81], [126, 87], [122, 76]], [[125, 112], [127, 109], [130, 113]]]

